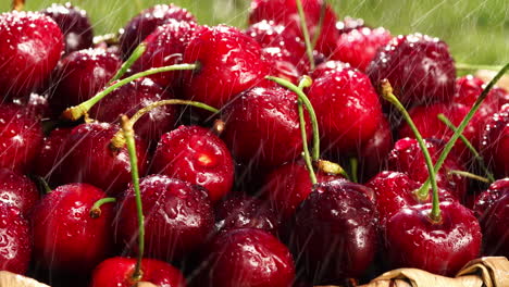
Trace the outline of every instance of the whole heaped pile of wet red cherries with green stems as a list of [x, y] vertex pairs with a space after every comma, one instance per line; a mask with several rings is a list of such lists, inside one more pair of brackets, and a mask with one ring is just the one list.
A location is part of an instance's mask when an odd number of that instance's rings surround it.
[[67, 3], [0, 39], [0, 270], [303, 287], [509, 257], [509, 93], [437, 38], [252, 0], [245, 30], [160, 4], [94, 38]]

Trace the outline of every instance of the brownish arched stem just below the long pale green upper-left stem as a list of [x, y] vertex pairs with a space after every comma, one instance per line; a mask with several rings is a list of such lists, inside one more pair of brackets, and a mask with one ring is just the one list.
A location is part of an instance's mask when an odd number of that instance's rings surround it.
[[[188, 101], [188, 100], [179, 100], [179, 99], [162, 100], [162, 101], [153, 102], [153, 103], [140, 109], [139, 111], [137, 111], [129, 120], [127, 120], [127, 125], [129, 125], [131, 128], [133, 128], [134, 125], [136, 124], [136, 122], [141, 116], [144, 116], [146, 113], [152, 111], [153, 109], [157, 109], [157, 108], [162, 107], [162, 105], [167, 105], [167, 104], [193, 105], [193, 107], [200, 108], [200, 109], [203, 109], [203, 110], [212, 112], [212, 113], [219, 113], [218, 109], [215, 109], [215, 108], [213, 108], [211, 105], [208, 105], [206, 103], [198, 102], [198, 101]], [[124, 137], [123, 130], [119, 130], [119, 133], [116, 133], [113, 136], [113, 138], [111, 139], [112, 148], [121, 149], [122, 147], [125, 146], [125, 141], [126, 141], [126, 139]]]

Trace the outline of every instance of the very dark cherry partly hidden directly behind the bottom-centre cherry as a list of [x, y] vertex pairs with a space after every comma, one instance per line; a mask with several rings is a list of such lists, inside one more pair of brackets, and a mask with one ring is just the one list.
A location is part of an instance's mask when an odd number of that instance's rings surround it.
[[258, 228], [276, 235], [277, 213], [264, 201], [249, 196], [233, 196], [215, 207], [215, 229], [226, 233]]

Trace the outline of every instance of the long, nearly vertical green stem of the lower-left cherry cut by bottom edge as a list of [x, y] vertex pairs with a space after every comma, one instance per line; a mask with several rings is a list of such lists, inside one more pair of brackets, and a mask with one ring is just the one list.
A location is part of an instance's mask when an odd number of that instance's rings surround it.
[[136, 142], [135, 132], [133, 126], [129, 124], [129, 120], [126, 115], [121, 117], [122, 132], [124, 133], [127, 151], [129, 153], [131, 161], [131, 176], [133, 178], [133, 187], [136, 196], [136, 211], [138, 214], [138, 258], [136, 261], [135, 271], [133, 273], [133, 279], [139, 280], [141, 278], [141, 259], [145, 252], [145, 216], [144, 208], [141, 203], [141, 192], [139, 191], [139, 174], [138, 174], [138, 158], [136, 157]]

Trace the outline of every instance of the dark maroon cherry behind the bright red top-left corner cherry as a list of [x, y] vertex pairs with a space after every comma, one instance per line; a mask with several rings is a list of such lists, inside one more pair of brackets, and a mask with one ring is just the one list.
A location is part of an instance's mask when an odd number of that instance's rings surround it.
[[65, 53], [87, 49], [94, 45], [94, 30], [85, 10], [67, 2], [65, 4], [53, 3], [41, 13], [53, 18], [63, 32]]

